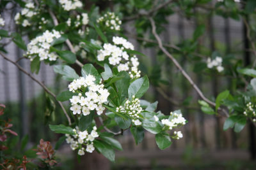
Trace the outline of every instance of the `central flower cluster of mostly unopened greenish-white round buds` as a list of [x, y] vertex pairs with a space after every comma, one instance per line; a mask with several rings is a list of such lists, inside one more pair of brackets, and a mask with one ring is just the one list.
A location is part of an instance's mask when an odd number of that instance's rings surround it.
[[141, 125], [139, 120], [142, 108], [140, 106], [140, 100], [132, 96], [132, 100], [125, 101], [124, 106], [116, 108], [116, 112], [129, 115], [134, 125]]

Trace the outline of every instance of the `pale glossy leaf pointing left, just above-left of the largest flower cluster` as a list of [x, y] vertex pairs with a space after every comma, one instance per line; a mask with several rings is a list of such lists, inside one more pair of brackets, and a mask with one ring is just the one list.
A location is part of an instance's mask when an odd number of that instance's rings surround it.
[[54, 66], [54, 72], [63, 75], [62, 78], [67, 81], [73, 81], [79, 78], [76, 71], [70, 66]]

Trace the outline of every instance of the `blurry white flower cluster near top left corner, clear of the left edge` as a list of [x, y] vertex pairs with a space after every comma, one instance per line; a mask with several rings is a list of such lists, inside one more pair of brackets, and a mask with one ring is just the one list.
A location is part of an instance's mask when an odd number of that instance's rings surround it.
[[[35, 8], [35, 5], [31, 2], [26, 3], [25, 8], [23, 8], [20, 13], [17, 13], [14, 17], [16, 24], [22, 24], [23, 27], [30, 26], [31, 23], [29, 22], [30, 18], [32, 18], [34, 15], [37, 15], [37, 9]], [[21, 18], [22, 17], [22, 18]]]

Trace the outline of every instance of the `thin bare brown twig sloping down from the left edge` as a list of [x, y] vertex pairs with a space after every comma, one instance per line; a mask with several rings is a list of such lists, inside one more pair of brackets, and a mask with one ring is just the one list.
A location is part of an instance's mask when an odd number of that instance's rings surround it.
[[[50, 94], [52, 97], [54, 97], [56, 99], [56, 95], [53, 94], [45, 85], [44, 83], [42, 83], [41, 81], [37, 80], [34, 76], [32, 76], [31, 74], [29, 74], [25, 69], [23, 69], [19, 64], [17, 64], [15, 61], [9, 59], [8, 57], [6, 57], [6, 55], [4, 55], [3, 53], [0, 52], [0, 55], [5, 59], [8, 60], [8, 62], [12, 62], [12, 64], [14, 64], [16, 67], [18, 67], [18, 69], [20, 71], [22, 71], [23, 73], [27, 74], [32, 80], [36, 81], [36, 83], [38, 83], [41, 87], [43, 87], [43, 89], [45, 90], [45, 92], [47, 92], [48, 94]], [[56, 99], [57, 101], [57, 99]], [[67, 111], [65, 110], [63, 104], [58, 101], [58, 103], [60, 104], [61, 109], [63, 110], [63, 112], [65, 113], [67, 120], [68, 120], [68, 124], [71, 125], [71, 120], [70, 117], [67, 114]]]

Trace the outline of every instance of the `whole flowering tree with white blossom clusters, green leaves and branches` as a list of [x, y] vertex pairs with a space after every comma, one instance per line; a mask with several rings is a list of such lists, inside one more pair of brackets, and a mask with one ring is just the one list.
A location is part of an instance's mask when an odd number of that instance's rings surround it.
[[[61, 74], [63, 80], [68, 81], [67, 90], [58, 95], [53, 94], [44, 83], [36, 80], [17, 62], [6, 57], [4, 45], [0, 48], [0, 55], [28, 74], [58, 101], [67, 122], [49, 127], [56, 133], [65, 134], [63, 138], [78, 155], [96, 150], [114, 161], [114, 149], [122, 150], [114, 137], [123, 134], [127, 129], [131, 130], [136, 144], [143, 140], [145, 129], [156, 134], [157, 146], [165, 149], [171, 145], [171, 138], [182, 138], [179, 128], [186, 124], [186, 120], [180, 110], [164, 115], [161, 111], [156, 111], [157, 102], [141, 100], [148, 90], [149, 80], [139, 70], [138, 56], [145, 55], [134, 50], [132, 43], [124, 36], [122, 27], [122, 20], [135, 20], [136, 38], [141, 43], [157, 45], [159, 52], [172, 60], [202, 98], [199, 101], [202, 111], [227, 117], [224, 129], [235, 127], [234, 130], [239, 132], [246, 120], [255, 122], [255, 79], [250, 80], [250, 83], [244, 79], [246, 76], [256, 76], [253, 69], [255, 63], [250, 69], [242, 66], [230, 68], [226, 66], [233, 62], [223, 59], [218, 53], [212, 53], [211, 57], [202, 57], [195, 53], [196, 46], [199, 46], [197, 39], [204, 34], [202, 25], [196, 28], [193, 39], [188, 39], [183, 46], [172, 45], [171, 48], [175, 48], [177, 53], [189, 55], [191, 59], [196, 56], [195, 64], [200, 64], [201, 71], [217, 71], [223, 76], [234, 72], [235, 76], [243, 77], [245, 92], [237, 89], [237, 92], [231, 94], [229, 90], [225, 90], [218, 94], [215, 101], [211, 101], [205, 97], [159, 36], [163, 31], [161, 24], [166, 22], [162, 16], [170, 14], [166, 11], [168, 8], [179, 8], [185, 16], [191, 17], [193, 8], [206, 8], [204, 5], [210, 1], [113, 1], [113, 5], [118, 7], [116, 13], [110, 10], [99, 11], [97, 6], [84, 10], [86, 3], [79, 0], [4, 1], [1, 4], [3, 9], [9, 6], [20, 8], [14, 16], [17, 31], [1, 29], [0, 36], [10, 39], [24, 50], [24, 59], [31, 61], [32, 73], [38, 73], [40, 63], [44, 62], [54, 67], [54, 71]], [[242, 3], [245, 8], [239, 8], [239, 4], [232, 0], [214, 4], [211, 10], [218, 15], [241, 17], [247, 25], [245, 16], [253, 13], [256, 6], [253, 1], [248, 1]], [[230, 6], [232, 12], [229, 11]], [[4, 26], [3, 18], [0, 18], [0, 25]], [[247, 29], [250, 38], [249, 25]], [[151, 32], [150, 39], [145, 37], [147, 31]], [[24, 36], [29, 38], [27, 45], [22, 40]], [[255, 52], [253, 42], [252, 48]], [[200, 62], [198, 56], [201, 56]], [[76, 72], [74, 67], [79, 67], [80, 71]], [[239, 83], [236, 86], [238, 85]], [[62, 104], [65, 101], [70, 101], [68, 111]], [[120, 131], [113, 131], [114, 126], [118, 126]], [[40, 145], [46, 143], [42, 141]]]

